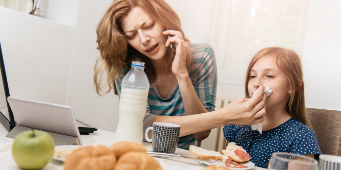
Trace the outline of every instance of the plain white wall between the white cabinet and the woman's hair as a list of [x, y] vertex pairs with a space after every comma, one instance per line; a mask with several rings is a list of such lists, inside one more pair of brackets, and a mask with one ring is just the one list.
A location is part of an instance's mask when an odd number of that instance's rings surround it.
[[116, 131], [118, 96], [98, 96], [94, 90], [94, 65], [100, 55], [96, 49], [96, 27], [111, 0], [80, 0], [70, 75], [68, 105], [75, 117], [98, 128]]

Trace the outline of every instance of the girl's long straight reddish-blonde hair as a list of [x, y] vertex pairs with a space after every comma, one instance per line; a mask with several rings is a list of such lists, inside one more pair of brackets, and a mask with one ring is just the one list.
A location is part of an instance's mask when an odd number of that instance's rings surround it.
[[246, 72], [246, 98], [250, 98], [247, 85], [250, 79], [250, 71], [253, 65], [262, 57], [270, 56], [275, 59], [275, 61], [277, 62], [277, 66], [287, 76], [289, 87], [292, 89], [292, 93], [290, 94], [287, 103], [288, 113], [296, 120], [299, 120], [302, 124], [311, 127], [305, 106], [301, 59], [294, 51], [290, 49], [285, 49], [281, 47], [267, 47], [263, 48], [252, 57]]

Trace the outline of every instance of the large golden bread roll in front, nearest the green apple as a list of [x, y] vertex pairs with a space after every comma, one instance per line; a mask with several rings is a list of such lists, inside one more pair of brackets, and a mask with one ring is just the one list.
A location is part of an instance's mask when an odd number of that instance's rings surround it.
[[107, 147], [81, 147], [71, 153], [64, 162], [64, 170], [112, 170], [116, 156]]

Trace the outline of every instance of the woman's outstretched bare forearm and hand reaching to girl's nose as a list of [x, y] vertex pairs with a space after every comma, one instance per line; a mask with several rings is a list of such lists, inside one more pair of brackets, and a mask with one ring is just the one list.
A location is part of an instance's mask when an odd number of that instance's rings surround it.
[[[261, 86], [261, 91], [264, 87]], [[186, 136], [225, 125], [253, 125], [263, 122], [265, 114], [264, 93], [257, 93], [251, 99], [241, 98], [216, 111], [186, 116], [156, 116], [153, 122], [178, 124], [180, 136]], [[262, 117], [255, 113], [260, 112]], [[152, 133], [149, 134], [150, 137]]]

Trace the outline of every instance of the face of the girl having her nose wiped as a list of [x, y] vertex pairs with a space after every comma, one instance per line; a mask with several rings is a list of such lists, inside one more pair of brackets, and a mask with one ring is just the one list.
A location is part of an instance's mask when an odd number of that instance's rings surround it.
[[266, 109], [286, 108], [291, 90], [287, 76], [280, 70], [272, 56], [260, 58], [251, 68], [247, 85], [250, 96], [263, 84], [272, 90], [266, 99]]

